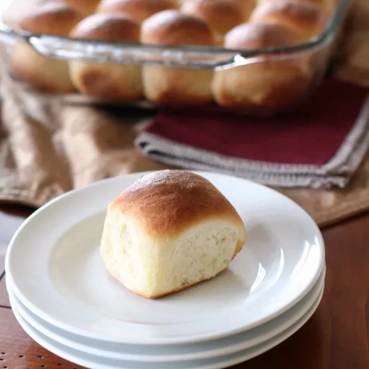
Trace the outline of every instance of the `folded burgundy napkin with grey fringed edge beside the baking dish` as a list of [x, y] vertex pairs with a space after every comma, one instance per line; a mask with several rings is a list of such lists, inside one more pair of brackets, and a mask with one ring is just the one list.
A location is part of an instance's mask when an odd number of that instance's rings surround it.
[[162, 111], [135, 144], [154, 160], [277, 187], [343, 188], [369, 145], [369, 89], [327, 79], [294, 113]]

